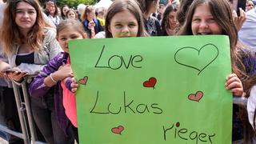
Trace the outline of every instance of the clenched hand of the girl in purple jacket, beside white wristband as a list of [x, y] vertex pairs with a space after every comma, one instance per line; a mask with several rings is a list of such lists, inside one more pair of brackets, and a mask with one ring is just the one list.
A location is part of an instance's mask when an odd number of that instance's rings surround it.
[[55, 73], [54, 78], [56, 78], [57, 81], [62, 81], [65, 78], [74, 77], [73, 71], [71, 69], [70, 64], [61, 66]]

